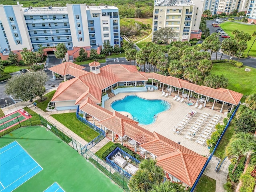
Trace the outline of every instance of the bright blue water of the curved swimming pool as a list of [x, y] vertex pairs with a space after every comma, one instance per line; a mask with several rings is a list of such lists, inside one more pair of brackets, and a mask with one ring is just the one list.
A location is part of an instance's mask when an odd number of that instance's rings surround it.
[[133, 120], [142, 125], [154, 123], [160, 112], [170, 109], [170, 104], [164, 100], [148, 100], [136, 95], [129, 95], [121, 100], [112, 102], [111, 107], [116, 111], [126, 111]]

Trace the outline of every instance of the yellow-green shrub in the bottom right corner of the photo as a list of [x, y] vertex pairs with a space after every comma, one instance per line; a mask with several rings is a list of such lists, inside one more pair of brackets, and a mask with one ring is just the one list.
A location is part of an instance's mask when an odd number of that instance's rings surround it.
[[253, 168], [254, 168], [253, 165], [249, 165], [246, 172], [242, 174], [242, 176], [240, 177], [242, 181], [240, 192], [253, 192], [254, 186], [256, 184], [254, 178], [250, 174]]

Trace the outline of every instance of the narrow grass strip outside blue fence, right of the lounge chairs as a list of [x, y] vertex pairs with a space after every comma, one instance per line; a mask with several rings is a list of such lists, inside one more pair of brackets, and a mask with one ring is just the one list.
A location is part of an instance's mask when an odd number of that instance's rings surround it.
[[230, 139], [234, 135], [234, 132], [235, 132], [234, 124], [231, 123], [228, 126], [228, 129], [226, 130], [226, 132], [224, 133], [224, 136], [220, 140], [220, 143], [219, 143], [216, 151], [214, 152], [214, 156], [220, 158], [220, 161], [222, 161], [226, 157], [226, 154], [225, 154], [226, 146], [230, 142]]

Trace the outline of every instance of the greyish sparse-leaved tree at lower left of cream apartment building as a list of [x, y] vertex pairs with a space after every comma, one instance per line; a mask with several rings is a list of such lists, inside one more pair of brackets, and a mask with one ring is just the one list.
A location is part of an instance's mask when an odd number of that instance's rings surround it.
[[168, 44], [168, 40], [177, 36], [177, 33], [170, 27], [161, 28], [154, 32], [153, 41], [163, 41]]

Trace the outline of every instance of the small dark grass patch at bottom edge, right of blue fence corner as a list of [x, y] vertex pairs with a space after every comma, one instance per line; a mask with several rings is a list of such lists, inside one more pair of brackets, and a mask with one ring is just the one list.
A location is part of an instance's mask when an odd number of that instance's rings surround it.
[[195, 192], [215, 192], [215, 187], [216, 180], [203, 174], [196, 185]]

